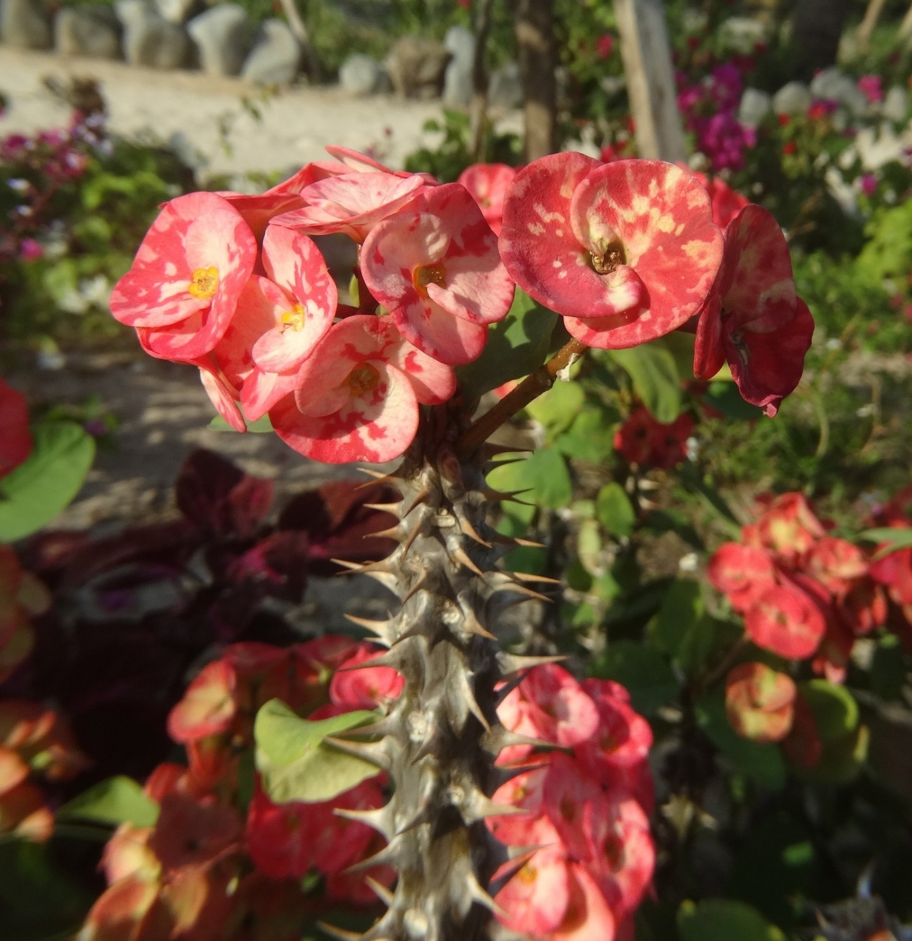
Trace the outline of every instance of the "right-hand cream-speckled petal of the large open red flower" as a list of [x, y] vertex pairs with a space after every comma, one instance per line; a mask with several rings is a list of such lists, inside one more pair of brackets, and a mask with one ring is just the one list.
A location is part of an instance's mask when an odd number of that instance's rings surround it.
[[[570, 220], [581, 246], [593, 257], [620, 250], [642, 282], [632, 295], [595, 270], [578, 273], [580, 294], [569, 314], [569, 332], [591, 346], [617, 349], [647, 343], [677, 329], [706, 302], [722, 261], [722, 232], [712, 221], [709, 194], [687, 170], [658, 160], [619, 160], [589, 173], [574, 190]], [[617, 272], [614, 273], [616, 275]]]

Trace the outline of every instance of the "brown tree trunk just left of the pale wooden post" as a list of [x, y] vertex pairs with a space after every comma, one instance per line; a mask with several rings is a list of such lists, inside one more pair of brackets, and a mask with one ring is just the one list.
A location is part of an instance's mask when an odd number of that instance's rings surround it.
[[525, 96], [525, 159], [557, 150], [557, 42], [553, 0], [518, 0], [516, 40]]

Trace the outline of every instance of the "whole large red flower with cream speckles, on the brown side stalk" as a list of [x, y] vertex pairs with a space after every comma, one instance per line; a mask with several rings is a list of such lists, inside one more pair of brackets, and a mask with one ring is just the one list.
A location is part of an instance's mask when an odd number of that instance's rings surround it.
[[655, 340], [696, 314], [722, 242], [706, 189], [656, 160], [553, 154], [520, 169], [504, 199], [507, 270], [603, 349]]

